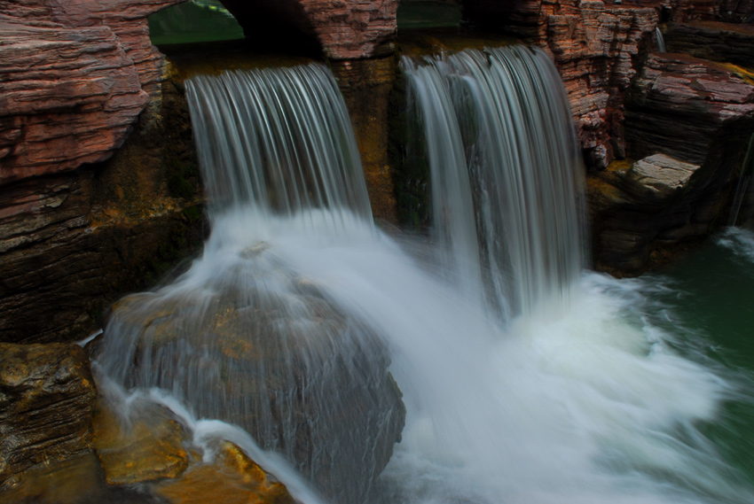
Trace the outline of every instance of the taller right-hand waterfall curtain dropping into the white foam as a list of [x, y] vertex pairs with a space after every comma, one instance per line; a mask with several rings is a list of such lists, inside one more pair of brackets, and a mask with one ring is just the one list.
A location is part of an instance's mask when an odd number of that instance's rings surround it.
[[403, 66], [447, 267], [504, 319], [546, 299], [567, 302], [584, 266], [583, 167], [553, 64], [540, 50], [512, 47]]

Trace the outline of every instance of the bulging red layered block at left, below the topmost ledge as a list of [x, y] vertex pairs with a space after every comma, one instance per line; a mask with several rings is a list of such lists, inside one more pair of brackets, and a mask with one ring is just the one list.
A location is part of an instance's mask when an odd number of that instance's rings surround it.
[[149, 101], [107, 27], [5, 24], [0, 184], [101, 161]]

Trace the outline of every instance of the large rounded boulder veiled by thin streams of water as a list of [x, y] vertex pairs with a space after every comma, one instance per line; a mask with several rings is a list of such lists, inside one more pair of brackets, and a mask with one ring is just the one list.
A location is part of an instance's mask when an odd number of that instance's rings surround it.
[[99, 364], [127, 388], [161, 387], [198, 417], [240, 425], [334, 501], [364, 500], [404, 425], [386, 345], [268, 245], [232, 255], [195, 266], [202, 282], [117, 303]]

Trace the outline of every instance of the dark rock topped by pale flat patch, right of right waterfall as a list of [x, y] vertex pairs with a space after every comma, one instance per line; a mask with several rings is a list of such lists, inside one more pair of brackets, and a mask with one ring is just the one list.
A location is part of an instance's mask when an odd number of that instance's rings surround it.
[[589, 174], [595, 266], [639, 275], [702, 240], [722, 205], [709, 185], [701, 167], [664, 154]]

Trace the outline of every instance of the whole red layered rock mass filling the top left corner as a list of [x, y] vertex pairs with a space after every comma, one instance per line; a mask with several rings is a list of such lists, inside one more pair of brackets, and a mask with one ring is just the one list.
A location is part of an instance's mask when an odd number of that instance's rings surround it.
[[107, 159], [156, 98], [146, 18], [182, 0], [0, 0], [0, 184]]

